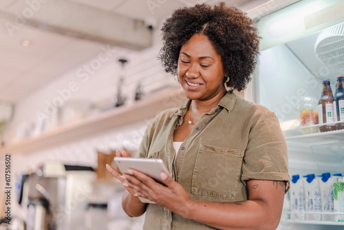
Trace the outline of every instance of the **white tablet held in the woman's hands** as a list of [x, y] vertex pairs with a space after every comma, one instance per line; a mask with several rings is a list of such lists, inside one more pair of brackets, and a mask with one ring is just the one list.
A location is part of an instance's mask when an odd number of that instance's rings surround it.
[[[115, 157], [114, 161], [122, 174], [129, 174], [128, 169], [136, 169], [141, 171], [147, 176], [153, 178], [156, 182], [164, 185], [160, 180], [160, 174], [164, 171], [166, 174], [170, 175], [164, 161], [158, 158], [130, 158], [130, 157]], [[140, 198], [140, 197], [139, 197]], [[153, 203], [151, 200], [140, 198], [142, 202]]]

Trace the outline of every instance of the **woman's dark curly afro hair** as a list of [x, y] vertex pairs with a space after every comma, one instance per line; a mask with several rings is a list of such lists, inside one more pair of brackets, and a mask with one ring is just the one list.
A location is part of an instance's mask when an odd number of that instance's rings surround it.
[[226, 83], [231, 90], [244, 90], [251, 80], [259, 54], [257, 29], [252, 19], [225, 3], [208, 6], [197, 4], [175, 10], [162, 26], [163, 45], [159, 52], [166, 72], [177, 75], [180, 48], [194, 34], [204, 34], [222, 58]]

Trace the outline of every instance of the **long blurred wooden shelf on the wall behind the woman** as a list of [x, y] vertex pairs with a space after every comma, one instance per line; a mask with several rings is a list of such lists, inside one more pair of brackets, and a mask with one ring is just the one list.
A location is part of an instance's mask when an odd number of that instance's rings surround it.
[[123, 105], [76, 123], [57, 127], [40, 136], [12, 143], [1, 148], [0, 154], [29, 153], [63, 145], [122, 125], [153, 118], [164, 109], [179, 107], [184, 101], [186, 101], [186, 97], [181, 88], [170, 90], [131, 105]]

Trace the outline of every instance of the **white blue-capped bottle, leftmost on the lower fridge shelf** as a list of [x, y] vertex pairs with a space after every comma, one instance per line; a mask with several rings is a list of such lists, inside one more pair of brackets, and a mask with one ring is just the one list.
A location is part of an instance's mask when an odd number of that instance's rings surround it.
[[290, 219], [305, 219], [305, 192], [303, 182], [299, 175], [292, 176], [290, 184]]

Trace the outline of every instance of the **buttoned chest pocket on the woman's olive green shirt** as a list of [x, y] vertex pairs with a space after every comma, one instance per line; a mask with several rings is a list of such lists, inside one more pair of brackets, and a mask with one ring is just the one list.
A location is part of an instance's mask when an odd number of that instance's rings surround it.
[[244, 150], [200, 145], [193, 169], [191, 194], [233, 200], [243, 157]]

